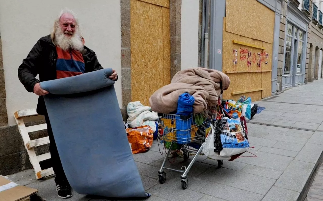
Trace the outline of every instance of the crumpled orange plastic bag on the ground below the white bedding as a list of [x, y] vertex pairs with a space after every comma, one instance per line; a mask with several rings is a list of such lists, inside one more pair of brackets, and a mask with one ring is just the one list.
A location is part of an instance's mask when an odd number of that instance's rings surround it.
[[127, 137], [132, 154], [143, 153], [150, 150], [154, 139], [150, 126], [127, 128]]

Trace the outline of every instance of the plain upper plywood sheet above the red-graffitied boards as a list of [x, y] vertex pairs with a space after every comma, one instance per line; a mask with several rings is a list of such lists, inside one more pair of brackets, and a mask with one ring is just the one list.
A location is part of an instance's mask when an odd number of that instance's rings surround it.
[[226, 0], [226, 31], [273, 42], [275, 12], [257, 0]]

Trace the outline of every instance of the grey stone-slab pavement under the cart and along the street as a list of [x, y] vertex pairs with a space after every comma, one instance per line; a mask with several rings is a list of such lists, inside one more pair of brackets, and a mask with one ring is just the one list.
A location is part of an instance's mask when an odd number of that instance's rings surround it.
[[[216, 160], [199, 155], [188, 174], [188, 188], [185, 190], [177, 172], [166, 171], [166, 182], [159, 183], [158, 170], [165, 151], [157, 141], [150, 151], [134, 154], [144, 188], [152, 195], [146, 200], [296, 201], [305, 197], [304, 187], [309, 185], [309, 178], [315, 176], [323, 151], [323, 80], [255, 103], [266, 109], [247, 123], [249, 151], [243, 154], [244, 157], [224, 161], [220, 169], [217, 169]], [[183, 162], [181, 158], [169, 159], [166, 167], [181, 168], [188, 162], [190, 160]], [[306, 198], [308, 201], [322, 197], [323, 168], [319, 170], [314, 180], [316, 183]], [[53, 178], [37, 181], [33, 170], [19, 172], [9, 178], [18, 184], [37, 188], [43, 199], [61, 200], [57, 197]], [[106, 199], [94, 199], [74, 192], [68, 200]]]

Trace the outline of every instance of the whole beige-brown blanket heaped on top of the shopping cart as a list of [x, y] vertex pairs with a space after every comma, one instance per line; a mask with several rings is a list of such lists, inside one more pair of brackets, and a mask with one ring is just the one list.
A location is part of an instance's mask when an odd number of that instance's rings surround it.
[[178, 97], [188, 92], [195, 98], [193, 112], [217, 104], [221, 91], [230, 85], [230, 78], [218, 70], [191, 68], [177, 72], [171, 84], [158, 89], [149, 99], [151, 109], [159, 113], [176, 111]]

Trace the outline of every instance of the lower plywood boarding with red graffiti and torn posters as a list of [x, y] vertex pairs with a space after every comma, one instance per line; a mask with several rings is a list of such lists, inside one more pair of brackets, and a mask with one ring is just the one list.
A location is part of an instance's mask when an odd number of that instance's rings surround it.
[[[224, 24], [226, 20], [224, 18]], [[237, 44], [233, 41], [243, 43]], [[251, 44], [253, 47], [243, 45], [245, 43]], [[258, 47], [263, 47], [264, 49]], [[222, 71], [229, 72], [227, 75], [231, 80], [229, 88], [224, 91], [224, 99], [237, 100], [240, 96], [250, 96], [252, 101], [257, 101], [262, 98], [262, 91], [265, 91], [263, 95], [267, 95], [268, 91], [271, 91], [271, 77], [268, 76], [271, 75], [272, 68], [271, 52], [272, 44], [226, 32], [224, 27]], [[260, 65], [258, 65], [259, 60]], [[263, 78], [266, 80], [263, 81]], [[264, 90], [232, 95], [233, 92], [260, 88], [264, 88]]]

